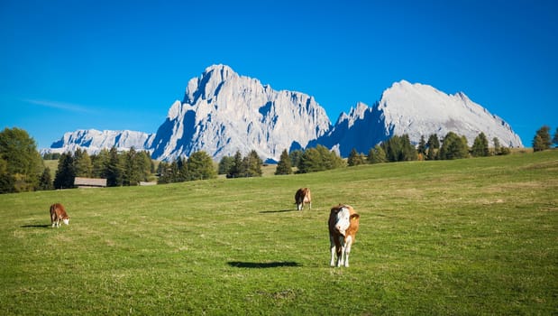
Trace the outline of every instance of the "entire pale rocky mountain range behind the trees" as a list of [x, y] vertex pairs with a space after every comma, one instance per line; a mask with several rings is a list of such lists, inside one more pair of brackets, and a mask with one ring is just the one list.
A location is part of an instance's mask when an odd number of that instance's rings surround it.
[[278, 161], [285, 149], [323, 144], [347, 156], [352, 148], [368, 153], [393, 135], [407, 134], [417, 144], [421, 135], [442, 139], [450, 131], [465, 135], [470, 145], [483, 132], [490, 142], [498, 137], [502, 145], [523, 146], [508, 123], [462, 92], [448, 95], [402, 80], [372, 107], [359, 102], [332, 125], [314, 97], [274, 90], [229, 66], [213, 65], [188, 81], [184, 98], [172, 104], [157, 133], [78, 130], [51, 144], [50, 152], [134, 147], [169, 161], [201, 150], [215, 160], [255, 150], [266, 161]]

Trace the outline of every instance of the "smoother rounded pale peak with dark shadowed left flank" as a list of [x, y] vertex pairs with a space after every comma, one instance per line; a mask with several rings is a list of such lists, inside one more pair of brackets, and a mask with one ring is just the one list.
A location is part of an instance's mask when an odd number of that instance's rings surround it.
[[367, 153], [393, 135], [407, 134], [412, 143], [418, 144], [422, 135], [427, 139], [432, 134], [444, 137], [448, 132], [465, 135], [470, 145], [483, 132], [490, 142], [497, 137], [500, 144], [523, 146], [508, 123], [464, 93], [449, 95], [406, 80], [386, 89], [373, 107], [359, 103], [349, 115], [343, 113], [334, 128], [311, 145], [325, 144], [347, 156], [352, 148]]

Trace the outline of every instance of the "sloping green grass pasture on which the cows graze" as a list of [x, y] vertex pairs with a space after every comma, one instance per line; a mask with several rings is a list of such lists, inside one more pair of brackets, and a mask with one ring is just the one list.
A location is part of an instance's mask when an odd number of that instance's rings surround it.
[[[340, 202], [361, 213], [348, 268]], [[7, 194], [0, 216], [2, 315], [558, 312], [558, 151]]]

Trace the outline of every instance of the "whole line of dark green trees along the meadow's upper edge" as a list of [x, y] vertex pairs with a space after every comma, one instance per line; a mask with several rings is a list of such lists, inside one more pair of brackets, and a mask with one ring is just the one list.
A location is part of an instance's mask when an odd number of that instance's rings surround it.
[[[544, 125], [536, 131], [532, 145], [534, 152], [558, 147], [558, 128], [553, 137], [550, 126]], [[492, 147], [483, 133], [474, 140], [471, 148], [464, 136], [448, 133], [443, 139], [430, 135], [426, 141], [421, 137], [417, 146], [410, 143], [408, 135], [396, 135], [370, 148], [367, 155], [352, 150], [345, 162], [337, 153], [323, 145], [281, 153], [275, 174], [297, 172], [319, 172], [345, 165], [361, 163], [386, 163], [410, 160], [459, 159], [469, 156], [507, 154], [509, 148], [492, 139]], [[58, 159], [58, 169], [54, 179], [43, 159]], [[161, 162], [157, 171], [151, 161], [151, 154], [131, 149], [118, 152], [116, 148], [104, 149], [89, 155], [86, 151], [74, 153], [47, 153], [44, 157], [37, 150], [37, 144], [23, 129], [5, 128], [0, 132], [0, 193], [41, 191], [72, 188], [75, 177], [105, 178], [108, 186], [137, 185], [140, 181], [150, 181], [157, 172], [159, 183], [212, 179], [216, 173], [228, 178], [261, 176], [263, 165], [258, 153], [252, 151], [246, 156], [237, 152], [233, 157], [224, 157], [215, 163], [205, 152], [193, 153], [185, 158], [177, 158], [172, 163]]]

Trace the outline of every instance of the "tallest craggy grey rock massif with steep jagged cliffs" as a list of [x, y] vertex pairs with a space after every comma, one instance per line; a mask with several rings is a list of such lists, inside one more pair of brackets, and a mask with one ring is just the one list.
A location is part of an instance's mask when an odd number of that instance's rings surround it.
[[188, 81], [183, 102], [175, 101], [153, 142], [153, 157], [173, 159], [205, 150], [219, 159], [256, 150], [279, 160], [293, 143], [324, 135], [331, 123], [306, 94], [276, 91], [258, 79], [214, 65]]

